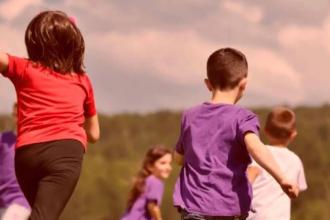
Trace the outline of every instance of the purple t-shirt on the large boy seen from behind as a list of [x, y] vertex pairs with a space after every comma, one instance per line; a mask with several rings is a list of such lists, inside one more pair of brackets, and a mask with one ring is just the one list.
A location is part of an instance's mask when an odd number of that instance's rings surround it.
[[251, 163], [246, 132], [259, 134], [254, 113], [230, 104], [203, 103], [183, 113], [176, 151], [184, 165], [174, 189], [174, 205], [209, 216], [246, 214]]

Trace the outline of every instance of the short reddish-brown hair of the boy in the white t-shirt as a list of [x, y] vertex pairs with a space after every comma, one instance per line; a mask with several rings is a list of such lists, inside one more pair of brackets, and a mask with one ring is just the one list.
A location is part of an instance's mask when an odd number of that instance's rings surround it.
[[296, 130], [296, 116], [286, 107], [276, 107], [267, 116], [265, 132], [270, 136], [287, 140]]

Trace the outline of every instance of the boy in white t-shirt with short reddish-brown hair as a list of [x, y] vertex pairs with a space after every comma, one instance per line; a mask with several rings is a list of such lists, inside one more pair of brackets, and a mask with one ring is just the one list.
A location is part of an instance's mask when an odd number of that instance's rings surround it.
[[[285, 107], [274, 108], [267, 117], [265, 134], [271, 146], [267, 146], [285, 175], [296, 182], [299, 190], [307, 189], [304, 168], [299, 157], [287, 146], [296, 137], [296, 118]], [[249, 220], [290, 219], [291, 202], [274, 179], [256, 163], [248, 168], [253, 187], [252, 208]]]

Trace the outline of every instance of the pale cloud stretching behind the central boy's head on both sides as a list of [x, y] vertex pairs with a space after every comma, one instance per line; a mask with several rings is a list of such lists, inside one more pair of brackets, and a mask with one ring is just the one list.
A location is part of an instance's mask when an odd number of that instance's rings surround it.
[[[200, 86], [208, 56], [223, 46], [192, 31], [109, 32], [104, 36], [93, 35], [89, 42], [93, 42], [92, 47], [100, 57], [107, 57], [109, 69], [120, 65], [115, 69], [132, 74], [152, 73], [168, 82]], [[303, 100], [302, 79], [280, 53], [264, 47], [233, 47], [246, 53], [249, 61], [248, 93], [262, 97], [250, 98], [250, 104], [298, 104]]]

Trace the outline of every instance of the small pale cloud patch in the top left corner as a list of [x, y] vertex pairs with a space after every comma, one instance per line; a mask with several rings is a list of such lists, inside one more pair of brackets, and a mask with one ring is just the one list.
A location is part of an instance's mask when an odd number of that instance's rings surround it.
[[12, 20], [32, 5], [39, 5], [42, 0], [4, 0], [0, 2], [0, 16], [5, 20]]

